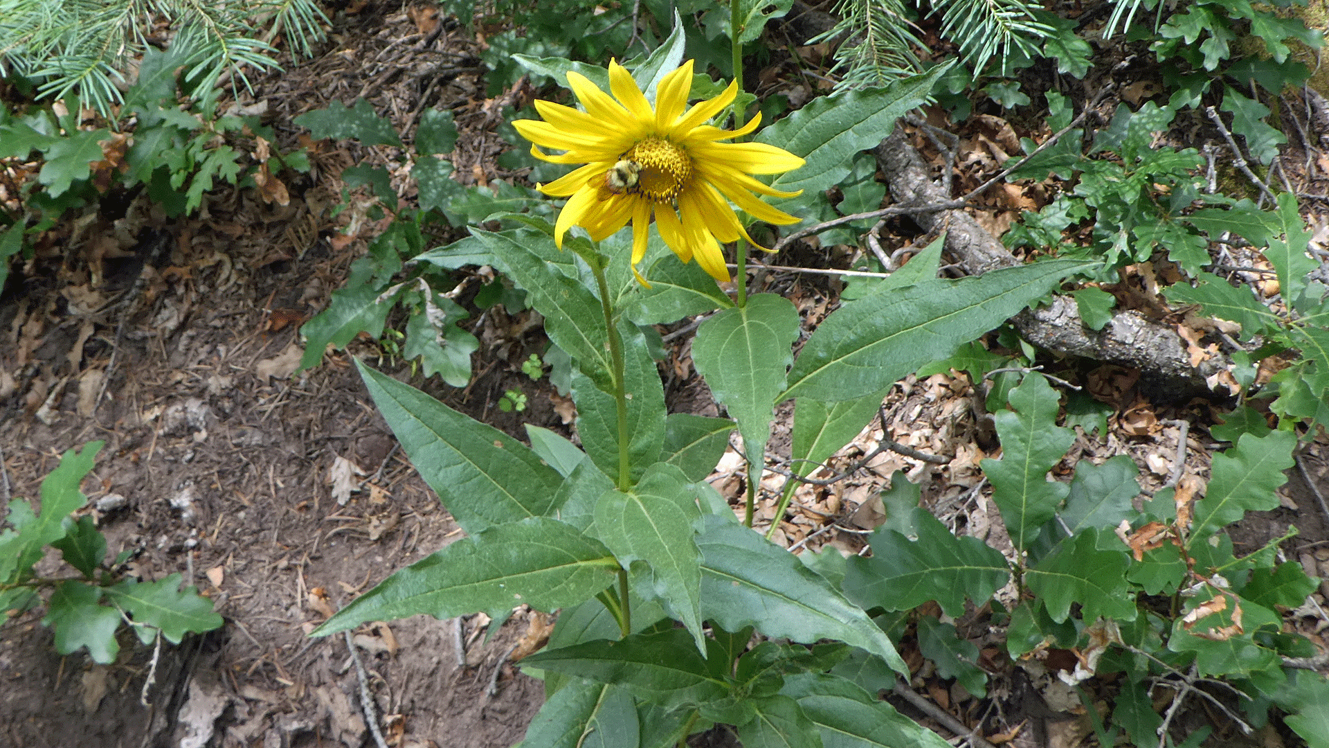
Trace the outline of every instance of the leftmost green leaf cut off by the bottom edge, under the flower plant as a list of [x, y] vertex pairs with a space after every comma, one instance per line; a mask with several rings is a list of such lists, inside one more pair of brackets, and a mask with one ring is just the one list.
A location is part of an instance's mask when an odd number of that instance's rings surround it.
[[641, 724], [633, 696], [607, 683], [574, 680], [560, 688], [526, 728], [522, 748], [637, 748]]

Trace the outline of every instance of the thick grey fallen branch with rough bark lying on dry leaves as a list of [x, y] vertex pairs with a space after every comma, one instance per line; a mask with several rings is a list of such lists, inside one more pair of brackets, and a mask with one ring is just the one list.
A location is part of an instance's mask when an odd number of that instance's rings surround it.
[[[902, 128], [896, 126], [873, 154], [886, 176], [890, 194], [902, 206], [952, 200], [932, 180], [928, 165], [905, 140]], [[945, 230], [946, 250], [971, 276], [1019, 264], [962, 209], [920, 210], [910, 217], [928, 232]], [[1102, 330], [1090, 330], [1080, 321], [1075, 301], [1063, 295], [1054, 297], [1050, 306], [1026, 309], [1011, 323], [1026, 341], [1051, 353], [1139, 369], [1142, 383], [1156, 387], [1163, 397], [1212, 395], [1205, 378], [1223, 367], [1216, 359], [1192, 366], [1185, 342], [1176, 330], [1134, 310], [1116, 313]]]

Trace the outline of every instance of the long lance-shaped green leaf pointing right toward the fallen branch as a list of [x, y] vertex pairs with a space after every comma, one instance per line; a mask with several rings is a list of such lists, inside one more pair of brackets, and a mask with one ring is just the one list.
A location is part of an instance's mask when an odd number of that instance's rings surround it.
[[849, 302], [808, 338], [776, 402], [840, 402], [877, 393], [924, 363], [954, 353], [1091, 262], [1050, 260], [892, 289]]

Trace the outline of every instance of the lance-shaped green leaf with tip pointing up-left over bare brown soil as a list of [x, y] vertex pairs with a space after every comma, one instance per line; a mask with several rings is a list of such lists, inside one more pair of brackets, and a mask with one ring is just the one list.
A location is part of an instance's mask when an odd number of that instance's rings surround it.
[[525, 445], [359, 359], [356, 366], [420, 476], [468, 534], [554, 508], [562, 478]]

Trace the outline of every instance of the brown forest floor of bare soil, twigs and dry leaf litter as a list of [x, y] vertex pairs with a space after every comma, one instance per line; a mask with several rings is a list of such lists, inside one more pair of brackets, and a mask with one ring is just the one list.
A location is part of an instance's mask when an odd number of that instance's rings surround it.
[[[474, 56], [478, 41], [453, 27], [424, 49], [429, 20], [400, 12], [396, 3], [361, 4], [339, 19], [322, 56], [256, 80], [254, 96], [241, 104], [263, 112], [283, 148], [298, 144], [296, 114], [332, 100], [363, 96], [403, 132], [427, 105], [452, 109], [461, 130], [455, 164], [461, 181], [506, 176], [493, 165], [506, 148], [496, 134], [501, 106], [521, 102], [530, 91], [518, 85], [486, 98]], [[979, 142], [977, 134], [969, 137]], [[354, 595], [461, 534], [396, 449], [352, 355], [520, 438], [524, 423], [570, 437], [573, 414], [548, 379], [521, 373], [521, 362], [544, 353], [548, 342], [529, 311], [509, 317], [494, 309], [466, 323], [481, 350], [464, 389], [412, 377], [409, 365], [384, 355], [373, 341], [356, 341], [292, 377], [303, 350], [299, 325], [326, 306], [364, 252], [363, 240], [336, 241], [332, 212], [342, 198], [335, 177], [381, 156], [326, 144], [311, 144], [311, 153], [315, 169], [287, 185], [287, 205], [226, 189], [201, 213], [178, 220], [166, 220], [145, 197], [118, 213], [102, 206], [90, 225], [51, 246], [0, 297], [0, 488], [7, 491], [0, 499], [36, 496], [65, 450], [104, 441], [84, 491], [110, 552], [134, 548], [132, 570], [144, 578], [183, 574], [226, 618], [222, 630], [162, 652], [144, 705], [150, 650], [129, 646], [125, 636], [112, 665], [93, 664], [85, 652], [62, 657], [40, 614], [17, 616], [0, 630], [0, 747], [359, 747], [371, 740], [363, 689], [372, 693], [391, 745], [505, 747], [521, 740], [542, 704], [544, 685], [516, 665], [552, 626], [538, 612], [518, 611], [492, 638], [484, 616], [377, 623], [350, 642], [307, 636]], [[978, 153], [968, 164], [981, 166], [983, 158], [991, 161]], [[405, 177], [399, 182], [407, 184]], [[148, 262], [146, 236], [169, 242], [155, 265]], [[896, 246], [909, 240], [892, 238]], [[781, 257], [781, 264], [827, 266], [843, 261], [835, 254], [827, 248], [811, 257]], [[138, 298], [112, 303], [141, 277], [149, 282], [140, 285]], [[820, 276], [776, 273], [760, 282], [792, 298], [808, 323], [839, 298], [839, 285]], [[687, 345], [679, 338], [663, 366], [670, 409], [715, 415]], [[1106, 433], [1080, 433], [1062, 467], [1131, 454], [1152, 487], [1167, 479], [1179, 454], [1193, 472], [1207, 471], [1212, 439], [1204, 427], [1219, 405], [1150, 402], [1131, 373], [1094, 371], [1095, 395], [1115, 398], [1119, 409]], [[528, 407], [505, 413], [498, 398], [514, 387], [528, 394]], [[978, 403], [981, 394], [964, 378], [910, 378], [897, 386], [882, 419], [832, 467], [852, 465], [882, 438], [949, 462], [886, 451], [849, 480], [804, 486], [781, 522], [781, 542], [860, 550], [863, 535], [881, 518], [877, 494], [902, 470], [922, 484], [924, 503], [934, 512], [999, 546], [999, 515], [983, 498], [978, 470], [997, 445]], [[1189, 425], [1181, 450], [1179, 419]], [[777, 433], [771, 450], [779, 455], [781, 447], [787, 454], [787, 437]], [[1237, 550], [1249, 551], [1294, 526], [1300, 535], [1284, 544], [1285, 552], [1308, 572], [1329, 576], [1329, 518], [1310, 484], [1329, 491], [1329, 450], [1316, 441], [1300, 459], [1305, 467], [1289, 471], [1284, 506], [1252, 514], [1233, 535]], [[769, 498], [783, 480], [768, 476], [758, 512], [767, 524]], [[722, 494], [739, 495], [736, 455], [726, 455], [712, 482]], [[1329, 588], [1322, 591], [1321, 602], [1329, 596]], [[1317, 635], [1329, 622], [1294, 624]], [[985, 636], [975, 628], [973, 640], [985, 654], [995, 652], [995, 640]], [[365, 661], [363, 680], [348, 646]], [[1047, 713], [1019, 707], [1019, 684], [1027, 677], [1017, 676], [1019, 668], [1009, 661], [997, 667], [993, 693], [1005, 689], [1010, 724], [1027, 712], [1049, 725], [1047, 745], [1084, 744], [1087, 720], [1074, 713], [1078, 703], [1045, 704]], [[979, 705], [934, 675], [920, 679], [928, 699], [962, 720]], [[1046, 719], [1049, 713], [1058, 719]], [[1011, 744], [1038, 745], [1033, 735], [1014, 735]]]

